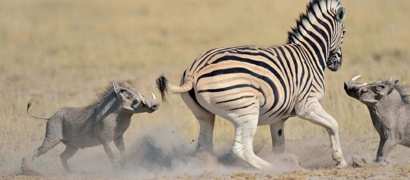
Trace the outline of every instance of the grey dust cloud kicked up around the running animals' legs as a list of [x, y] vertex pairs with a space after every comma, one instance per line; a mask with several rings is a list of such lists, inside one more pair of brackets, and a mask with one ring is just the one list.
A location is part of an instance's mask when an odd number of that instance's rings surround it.
[[[166, 127], [166, 128], [164, 128]], [[335, 166], [331, 158], [330, 141], [319, 138], [315, 141], [287, 141], [284, 155], [274, 155], [270, 145], [255, 149], [257, 155], [273, 164], [272, 169], [257, 170], [236, 158], [231, 148], [215, 148], [215, 156], [197, 153], [196, 139], [186, 139], [178, 128], [162, 125], [146, 128], [146, 130], [128, 134], [125, 139], [125, 168], [115, 170], [102, 146], [80, 150], [68, 160], [75, 174], [99, 178], [158, 178], [162, 176], [178, 176], [189, 174], [202, 177], [207, 173], [230, 174], [235, 172], [265, 173], [276, 175], [296, 169], [316, 169]], [[221, 142], [215, 142], [219, 144]], [[33, 162], [33, 166], [45, 175], [65, 174], [59, 159], [64, 145], [53, 148]], [[118, 150], [112, 144], [116, 157]], [[33, 148], [34, 150], [34, 148]], [[352, 163], [355, 154], [345, 154], [348, 164]], [[369, 157], [362, 155], [361, 157]], [[20, 159], [21, 160], [21, 159]], [[21, 161], [20, 161], [21, 162]], [[20, 165], [20, 164], [18, 164]], [[15, 166], [17, 167], [17, 166]], [[17, 169], [17, 168], [16, 168]], [[20, 173], [21, 170], [15, 172]]]

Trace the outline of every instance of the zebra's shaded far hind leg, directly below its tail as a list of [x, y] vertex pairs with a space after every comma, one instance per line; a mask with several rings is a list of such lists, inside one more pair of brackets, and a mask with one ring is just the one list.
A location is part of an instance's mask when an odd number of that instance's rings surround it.
[[189, 93], [181, 93], [181, 97], [199, 122], [196, 150], [199, 153], [206, 152], [210, 153], [210, 155], [214, 155], [214, 143], [212, 138], [214, 134], [215, 114], [202, 107]]

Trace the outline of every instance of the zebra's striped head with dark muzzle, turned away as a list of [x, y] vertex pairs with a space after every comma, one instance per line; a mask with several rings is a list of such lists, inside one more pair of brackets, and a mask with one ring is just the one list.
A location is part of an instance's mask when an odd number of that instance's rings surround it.
[[346, 33], [346, 27], [343, 20], [346, 17], [346, 9], [339, 6], [335, 9], [335, 16], [333, 16], [333, 32], [330, 35], [329, 56], [326, 59], [326, 65], [330, 71], [339, 70], [342, 66], [342, 43], [343, 36]]

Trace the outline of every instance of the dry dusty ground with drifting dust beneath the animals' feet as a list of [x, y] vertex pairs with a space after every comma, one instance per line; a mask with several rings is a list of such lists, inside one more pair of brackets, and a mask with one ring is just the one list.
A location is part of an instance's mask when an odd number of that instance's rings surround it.
[[[46, 155], [41, 162], [30, 163], [43, 175], [23, 175], [16, 164], [14, 173], [4, 173], [4, 179], [292, 179], [292, 180], [344, 180], [344, 179], [410, 179], [410, 149], [398, 146], [386, 164], [374, 163], [377, 139], [342, 141], [344, 156], [350, 167], [334, 169], [328, 139], [288, 141], [284, 155], [273, 155], [269, 147], [255, 149], [257, 155], [273, 163], [273, 169], [255, 170], [238, 161], [221, 146], [217, 157], [197, 154], [195, 143], [186, 141], [177, 132], [164, 132], [153, 128], [135, 134], [130, 146], [127, 164], [123, 170], [114, 170], [102, 148], [82, 150], [69, 161], [73, 174], [65, 174], [59, 157]], [[360, 144], [360, 146], [358, 146]], [[219, 147], [219, 148], [218, 148]], [[88, 151], [88, 152], [87, 152]], [[53, 153], [55, 154], [55, 153]], [[353, 158], [364, 167], [357, 167]], [[18, 161], [18, 159], [16, 159]], [[300, 165], [299, 165], [300, 163]]]

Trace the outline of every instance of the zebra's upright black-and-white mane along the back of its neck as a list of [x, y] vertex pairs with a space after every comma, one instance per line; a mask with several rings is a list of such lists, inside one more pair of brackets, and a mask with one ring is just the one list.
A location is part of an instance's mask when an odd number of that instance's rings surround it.
[[[302, 13], [299, 15], [299, 18], [296, 20], [296, 27], [292, 27], [292, 31], [287, 32], [288, 37], [287, 37], [287, 43], [295, 43], [294, 39], [299, 39], [298, 36], [302, 36], [301, 28], [304, 27], [303, 21], [307, 20], [309, 21], [309, 14], [314, 14], [314, 7], [319, 6], [320, 3], [324, 2], [325, 4], [328, 4], [328, 1], [331, 1], [332, 7], [337, 7], [340, 5], [339, 0], [311, 0], [309, 1], [309, 4], [306, 6], [306, 12]], [[333, 5], [333, 3], [335, 3]], [[326, 9], [321, 8], [322, 11], [325, 11]]]

